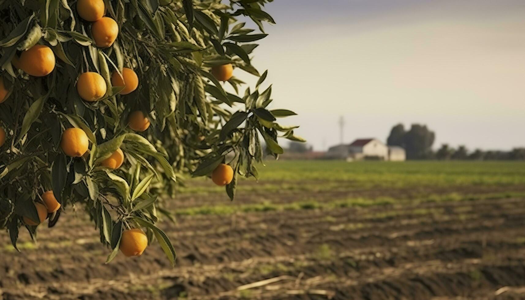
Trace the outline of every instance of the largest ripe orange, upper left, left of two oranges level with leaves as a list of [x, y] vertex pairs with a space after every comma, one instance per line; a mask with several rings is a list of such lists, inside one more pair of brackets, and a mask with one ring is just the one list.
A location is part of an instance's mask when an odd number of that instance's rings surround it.
[[35, 45], [20, 54], [17, 65], [29, 75], [46, 76], [55, 68], [55, 54], [48, 46]]

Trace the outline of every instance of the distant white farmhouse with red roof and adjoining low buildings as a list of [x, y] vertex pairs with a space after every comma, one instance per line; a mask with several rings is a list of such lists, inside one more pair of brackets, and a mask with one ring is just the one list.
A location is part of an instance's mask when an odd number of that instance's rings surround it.
[[341, 144], [328, 149], [327, 157], [332, 159], [358, 160], [392, 160], [404, 161], [405, 150], [401, 147], [388, 147], [374, 138], [356, 139], [351, 144]]

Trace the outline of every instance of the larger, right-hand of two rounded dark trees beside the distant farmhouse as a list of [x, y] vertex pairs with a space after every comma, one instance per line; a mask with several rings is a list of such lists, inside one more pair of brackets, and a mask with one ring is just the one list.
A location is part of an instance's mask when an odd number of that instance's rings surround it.
[[412, 124], [405, 133], [404, 143], [407, 159], [428, 159], [432, 157], [432, 144], [435, 133], [428, 130], [426, 125]]

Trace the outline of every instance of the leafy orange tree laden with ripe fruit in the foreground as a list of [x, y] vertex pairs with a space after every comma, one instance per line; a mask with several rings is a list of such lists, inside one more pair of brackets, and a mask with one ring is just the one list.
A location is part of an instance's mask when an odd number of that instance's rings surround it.
[[[13, 246], [20, 227], [35, 239], [81, 204], [108, 262], [157, 240], [173, 264], [155, 222], [172, 218], [177, 177], [210, 175], [233, 200], [239, 175], [282, 153], [278, 136], [301, 140], [250, 64], [275, 23], [267, 2], [0, 0], [0, 227]], [[240, 92], [240, 71], [257, 85]]]

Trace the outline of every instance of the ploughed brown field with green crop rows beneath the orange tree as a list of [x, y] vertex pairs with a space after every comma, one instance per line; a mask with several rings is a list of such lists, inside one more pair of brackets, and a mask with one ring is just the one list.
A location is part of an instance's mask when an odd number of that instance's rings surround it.
[[[81, 213], [0, 235], [4, 299], [525, 298], [524, 162], [278, 161], [236, 200], [187, 179], [137, 258], [109, 250]], [[82, 210], [77, 206], [76, 210]], [[265, 281], [268, 280], [268, 281]]]

